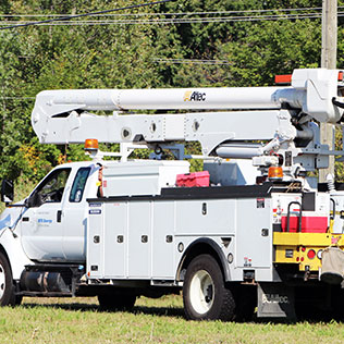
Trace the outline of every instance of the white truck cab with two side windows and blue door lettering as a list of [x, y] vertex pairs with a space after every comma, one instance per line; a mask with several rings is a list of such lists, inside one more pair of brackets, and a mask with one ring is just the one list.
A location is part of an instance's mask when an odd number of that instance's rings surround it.
[[17, 229], [29, 259], [85, 261], [86, 198], [97, 196], [99, 168], [93, 162], [60, 165], [32, 192]]

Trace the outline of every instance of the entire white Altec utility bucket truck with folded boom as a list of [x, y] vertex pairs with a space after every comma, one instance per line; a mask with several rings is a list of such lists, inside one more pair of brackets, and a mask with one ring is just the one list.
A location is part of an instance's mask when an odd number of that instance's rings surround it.
[[[20, 204], [3, 181], [1, 305], [97, 295], [130, 309], [183, 290], [187, 319], [343, 312], [344, 187], [309, 176], [344, 153], [319, 137], [341, 123], [343, 89], [342, 71], [305, 69], [279, 87], [41, 91], [40, 143], [86, 140], [93, 160], [54, 168]], [[186, 142], [204, 171], [189, 173]], [[130, 160], [139, 148], [151, 159]]]

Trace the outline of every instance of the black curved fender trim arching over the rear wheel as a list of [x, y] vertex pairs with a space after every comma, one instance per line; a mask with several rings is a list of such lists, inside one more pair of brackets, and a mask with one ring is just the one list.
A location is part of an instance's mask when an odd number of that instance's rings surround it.
[[179, 263], [177, 270], [176, 270], [176, 281], [181, 280], [181, 271], [183, 269], [183, 266], [185, 263], [186, 258], [188, 257], [189, 254], [192, 254], [192, 251], [194, 249], [197, 249], [197, 246], [207, 246], [208, 248], [210, 248], [210, 250], [216, 254], [217, 258], [219, 258], [219, 261], [221, 263], [221, 268], [223, 271], [223, 278], [225, 282], [231, 281], [231, 271], [230, 271], [230, 266], [229, 262], [222, 251], [222, 249], [220, 248], [220, 246], [211, 238], [209, 237], [200, 237], [197, 238], [195, 242], [193, 242], [185, 250], [185, 253], [183, 254], [183, 257]]

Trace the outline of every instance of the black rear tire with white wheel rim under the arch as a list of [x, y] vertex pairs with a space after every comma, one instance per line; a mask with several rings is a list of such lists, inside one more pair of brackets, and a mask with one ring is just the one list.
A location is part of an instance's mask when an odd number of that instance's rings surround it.
[[235, 317], [235, 302], [225, 287], [222, 271], [210, 255], [200, 255], [187, 267], [183, 302], [189, 320], [231, 321]]

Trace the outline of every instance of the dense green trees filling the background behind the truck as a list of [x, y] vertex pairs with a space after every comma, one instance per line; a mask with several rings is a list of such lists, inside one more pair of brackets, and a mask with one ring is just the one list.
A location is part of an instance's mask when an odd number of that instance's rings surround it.
[[[87, 13], [144, 2], [5, 0], [0, 3], [0, 13], [17, 15], [8, 17], [8, 21], [24, 21], [27, 19], [21, 17], [21, 14]], [[339, 1], [339, 5], [342, 2]], [[157, 13], [140, 15], [139, 19], [177, 19], [176, 14], [158, 13], [216, 11], [236, 11], [232, 12], [234, 16], [256, 15], [255, 12], [237, 12], [248, 10], [284, 15], [281, 9], [321, 4], [321, 0], [179, 0], [131, 13]], [[36, 94], [44, 89], [272, 85], [275, 74], [319, 65], [320, 26], [320, 20], [279, 20], [159, 25], [40, 25], [2, 30], [0, 179], [22, 176], [37, 181], [58, 163], [85, 159], [78, 145], [40, 145], [35, 137], [30, 111]], [[343, 36], [344, 25], [340, 19], [339, 65], [344, 63]], [[157, 59], [210, 59], [228, 61], [228, 64], [157, 63]], [[188, 145], [187, 151], [199, 153], [197, 147]], [[148, 155], [148, 151], [142, 151], [135, 157]], [[200, 168], [199, 161], [192, 161], [193, 170]], [[337, 171], [339, 175], [343, 174], [340, 168]]]

